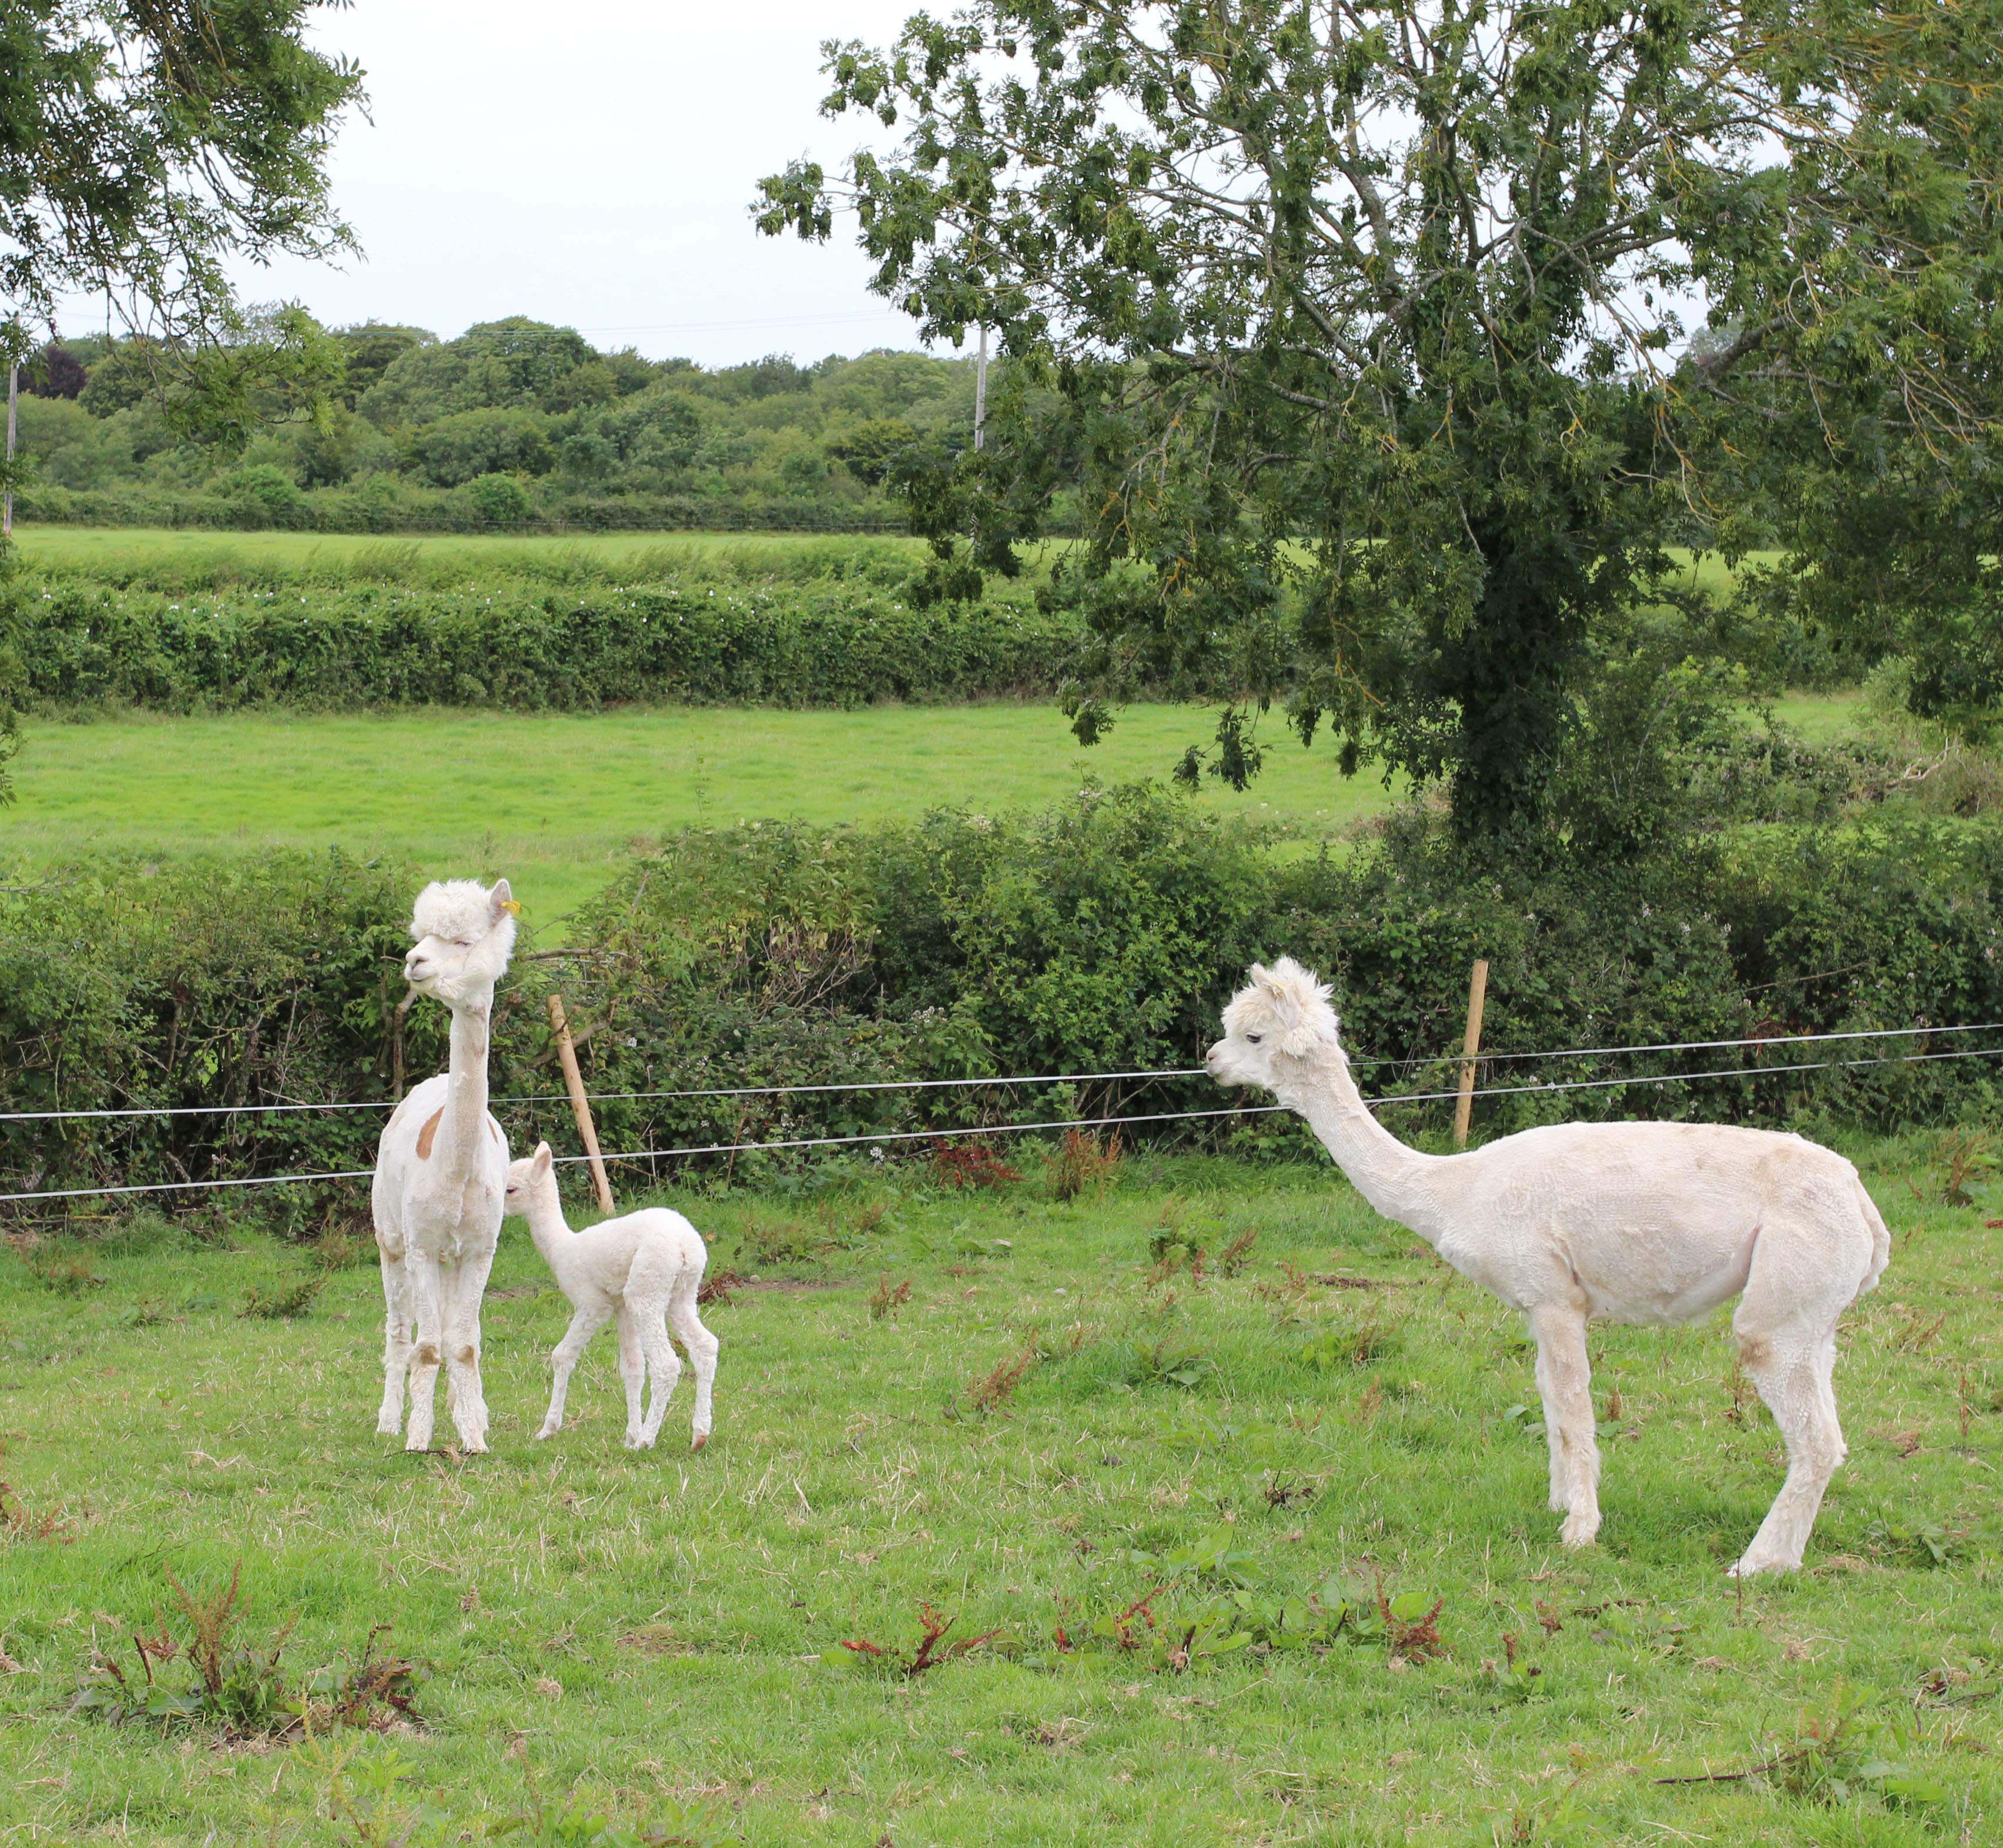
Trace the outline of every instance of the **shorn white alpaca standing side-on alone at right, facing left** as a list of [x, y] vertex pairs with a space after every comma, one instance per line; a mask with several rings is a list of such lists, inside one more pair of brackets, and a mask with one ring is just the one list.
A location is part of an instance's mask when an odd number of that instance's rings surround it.
[[1336, 1029], [1312, 973], [1254, 965], [1210, 1073], [1272, 1091], [1370, 1205], [1522, 1309], [1560, 1540], [1586, 1546], [1600, 1528], [1586, 1321], [1695, 1321], [1737, 1295], [1739, 1357], [1787, 1440], [1787, 1482], [1731, 1570], [1801, 1566], [1845, 1456], [1837, 1317], [1891, 1255], [1857, 1169], [1799, 1135], [1715, 1123], [1566, 1123], [1422, 1155], [1370, 1115]]

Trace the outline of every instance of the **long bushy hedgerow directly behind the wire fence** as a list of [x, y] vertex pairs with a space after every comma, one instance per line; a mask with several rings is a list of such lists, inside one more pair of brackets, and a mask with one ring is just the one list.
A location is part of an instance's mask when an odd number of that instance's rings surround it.
[[[0, 1109], [391, 1099], [399, 1069], [445, 1063], [443, 1009], [397, 1011], [415, 887], [401, 867], [302, 855], [98, 867], [0, 895]], [[1146, 787], [1016, 817], [693, 829], [635, 857], [573, 921], [573, 949], [535, 957], [525, 945], [497, 1005], [493, 1091], [537, 1099], [501, 1107], [521, 1145], [549, 1135], [569, 1147], [541, 1005], [553, 987], [601, 1093], [1190, 1067], [1246, 963], [1294, 953], [1334, 985], [1364, 1089], [1430, 1093], [1450, 1085], [1474, 955], [1492, 965], [1490, 1053], [1923, 1031], [2003, 1019], [1999, 913], [2003, 827], [1899, 817], [1514, 881], [1396, 831], [1348, 857], [1276, 859], [1256, 833]], [[1989, 1107], [1983, 1061], [1576, 1091], [1540, 1081], [1969, 1043], [1496, 1063], [1484, 1083], [1532, 1089], [1484, 1099], [1476, 1121], [1937, 1123]], [[1226, 1101], [1202, 1077], [1110, 1079], [625, 1097], [599, 1121], [607, 1149], [631, 1151]], [[1426, 1103], [1390, 1121], [1416, 1135], [1442, 1117]], [[0, 1123], [12, 1183], [0, 1191], [369, 1167], [379, 1127], [377, 1111]], [[1138, 1135], [1306, 1147], [1274, 1115]], [[929, 1153], [923, 1139], [907, 1147]], [[699, 1165], [745, 1177], [807, 1159]], [[363, 1203], [355, 1187], [278, 1197], [300, 1227]]]

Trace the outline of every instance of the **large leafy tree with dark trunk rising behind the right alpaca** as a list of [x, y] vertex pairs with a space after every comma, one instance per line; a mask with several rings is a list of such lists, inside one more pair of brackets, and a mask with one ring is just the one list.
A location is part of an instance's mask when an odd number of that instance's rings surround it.
[[1076, 493], [1080, 737], [1222, 677], [1234, 781], [1282, 701], [1520, 835], [1594, 637], [1759, 537], [1747, 444], [1771, 531], [1983, 440], [1999, 48], [1997, 0], [975, 0], [827, 46], [897, 146], [761, 226], [851, 206], [927, 334], [1002, 330], [993, 438], [911, 487], [961, 571]]

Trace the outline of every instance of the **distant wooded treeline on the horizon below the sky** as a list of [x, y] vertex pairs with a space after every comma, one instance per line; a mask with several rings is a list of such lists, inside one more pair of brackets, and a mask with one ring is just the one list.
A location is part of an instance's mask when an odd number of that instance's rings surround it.
[[913, 446], [971, 438], [969, 360], [705, 370], [511, 316], [457, 340], [284, 310], [218, 354], [100, 336], [26, 368], [28, 521], [391, 531], [897, 531]]

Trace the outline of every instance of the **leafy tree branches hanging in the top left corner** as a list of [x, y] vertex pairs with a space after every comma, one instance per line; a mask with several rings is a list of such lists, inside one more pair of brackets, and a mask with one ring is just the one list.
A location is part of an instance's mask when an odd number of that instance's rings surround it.
[[[351, 242], [326, 196], [326, 154], [361, 100], [361, 70], [308, 42], [318, 10], [0, 6], [0, 376], [76, 296], [104, 298], [146, 350], [176, 356], [182, 382], [200, 374], [224, 436], [248, 400], [324, 370], [304, 316], [246, 324], [226, 274], [232, 256], [324, 256]], [[0, 715], [4, 669], [0, 635]]]

